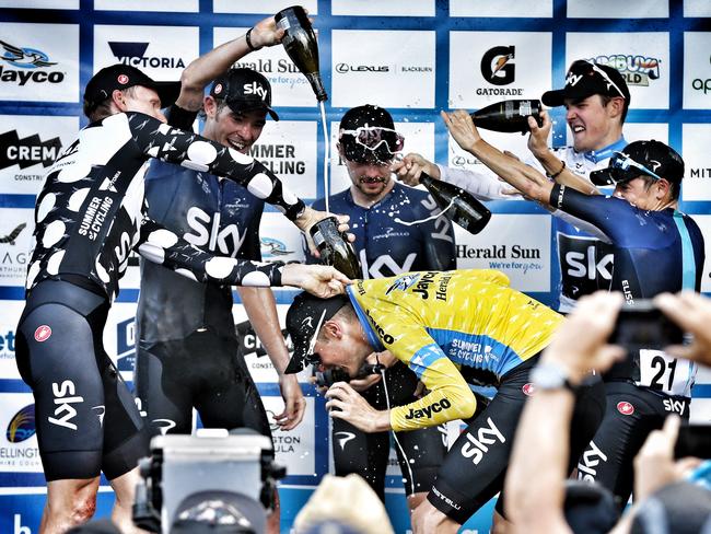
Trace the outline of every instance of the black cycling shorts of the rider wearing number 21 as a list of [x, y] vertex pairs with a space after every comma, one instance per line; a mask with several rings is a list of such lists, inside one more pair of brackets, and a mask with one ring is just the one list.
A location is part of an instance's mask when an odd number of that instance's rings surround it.
[[578, 478], [595, 480], [625, 508], [632, 492], [633, 460], [652, 430], [669, 414], [689, 418], [689, 398], [669, 396], [631, 382], [606, 382], [607, 409], [578, 463]]

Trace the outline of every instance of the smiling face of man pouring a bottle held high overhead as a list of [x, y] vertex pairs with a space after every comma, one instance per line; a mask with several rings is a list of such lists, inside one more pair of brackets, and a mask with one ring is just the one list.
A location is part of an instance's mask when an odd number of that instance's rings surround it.
[[242, 153], [247, 153], [257, 142], [267, 117], [266, 109], [235, 113], [230, 106], [218, 103], [211, 96], [205, 100], [205, 137]]

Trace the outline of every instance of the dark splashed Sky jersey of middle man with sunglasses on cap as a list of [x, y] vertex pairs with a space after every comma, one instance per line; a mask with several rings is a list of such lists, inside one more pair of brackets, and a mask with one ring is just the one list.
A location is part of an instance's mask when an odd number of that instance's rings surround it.
[[[324, 199], [316, 200], [313, 208], [325, 209]], [[412, 222], [438, 213], [440, 209], [426, 191], [396, 183], [380, 202], [363, 208], [353, 201], [349, 188], [329, 198], [329, 209], [350, 216], [349, 231], [356, 235], [353, 246], [363, 278], [456, 268], [454, 230], [446, 217], [413, 225], [396, 221]]]

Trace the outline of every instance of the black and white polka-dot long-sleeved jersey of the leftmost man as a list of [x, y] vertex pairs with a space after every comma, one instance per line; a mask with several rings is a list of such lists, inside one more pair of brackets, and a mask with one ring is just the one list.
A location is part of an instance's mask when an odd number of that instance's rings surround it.
[[202, 282], [281, 283], [281, 264], [214, 257], [148, 219], [143, 176], [151, 158], [226, 176], [291, 220], [304, 207], [249, 155], [141, 113], [113, 115], [83, 128], [47, 172], [35, 208], [28, 290], [45, 279], [90, 280], [114, 297], [133, 247]]

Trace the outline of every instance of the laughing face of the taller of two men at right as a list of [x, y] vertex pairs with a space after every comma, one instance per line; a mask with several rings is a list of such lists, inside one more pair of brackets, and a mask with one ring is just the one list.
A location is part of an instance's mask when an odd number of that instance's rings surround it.
[[604, 104], [599, 94], [582, 101], [566, 100], [566, 120], [575, 150], [601, 150], [617, 141], [622, 135], [623, 103], [622, 98], [610, 98]]

